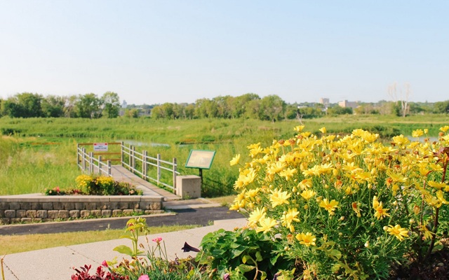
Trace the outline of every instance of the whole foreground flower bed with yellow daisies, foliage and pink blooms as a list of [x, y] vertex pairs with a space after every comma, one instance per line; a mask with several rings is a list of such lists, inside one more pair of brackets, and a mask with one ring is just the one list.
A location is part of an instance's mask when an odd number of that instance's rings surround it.
[[400, 135], [388, 145], [363, 130], [340, 137], [303, 128], [248, 146], [250, 162], [231, 160], [240, 165], [231, 209], [248, 216], [246, 228], [212, 232], [195, 261], [170, 262], [138, 251], [145, 220], [130, 221], [133, 248], [116, 249], [132, 260], [109, 269], [138, 280], [159, 271], [174, 271], [170, 279], [446, 279], [449, 126], [438, 141], [415, 130], [416, 141]]

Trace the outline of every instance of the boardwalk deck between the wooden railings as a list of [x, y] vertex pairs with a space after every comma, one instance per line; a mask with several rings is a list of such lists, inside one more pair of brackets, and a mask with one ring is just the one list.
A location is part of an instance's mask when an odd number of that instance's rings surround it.
[[112, 177], [114, 177], [115, 181], [133, 184], [138, 189], [143, 190], [144, 195], [161, 196], [164, 197], [165, 201], [181, 200], [181, 197], [154, 186], [152, 183], [145, 181], [121, 165], [112, 165], [111, 169]]

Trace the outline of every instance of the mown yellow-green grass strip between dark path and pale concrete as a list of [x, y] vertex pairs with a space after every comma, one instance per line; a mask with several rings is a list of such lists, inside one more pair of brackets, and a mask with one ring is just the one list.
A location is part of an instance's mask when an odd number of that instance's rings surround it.
[[[149, 232], [150, 234], [158, 234], [198, 227], [199, 225], [168, 225], [163, 227], [150, 227]], [[123, 230], [95, 230], [88, 232], [51, 233], [46, 235], [0, 235], [0, 255], [119, 239], [121, 235], [123, 235]]]

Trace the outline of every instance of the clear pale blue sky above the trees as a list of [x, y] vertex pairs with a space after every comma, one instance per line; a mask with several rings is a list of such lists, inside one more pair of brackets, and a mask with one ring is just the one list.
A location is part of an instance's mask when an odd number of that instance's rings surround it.
[[0, 97], [449, 99], [449, 1], [0, 0]]

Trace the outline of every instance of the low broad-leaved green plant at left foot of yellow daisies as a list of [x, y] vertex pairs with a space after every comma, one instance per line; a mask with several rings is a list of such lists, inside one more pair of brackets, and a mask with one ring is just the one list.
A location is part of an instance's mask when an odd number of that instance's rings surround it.
[[279, 270], [293, 266], [283, 258], [279, 242], [254, 230], [210, 232], [201, 248], [196, 260], [220, 279], [226, 273], [231, 279], [273, 279]]

